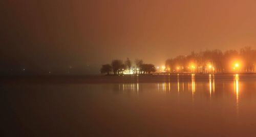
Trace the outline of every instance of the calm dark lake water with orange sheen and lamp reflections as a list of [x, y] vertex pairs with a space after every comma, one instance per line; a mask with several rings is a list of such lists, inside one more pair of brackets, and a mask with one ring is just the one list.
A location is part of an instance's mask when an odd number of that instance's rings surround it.
[[256, 136], [256, 75], [11, 78], [0, 86], [4, 136]]

